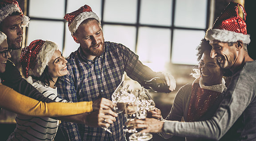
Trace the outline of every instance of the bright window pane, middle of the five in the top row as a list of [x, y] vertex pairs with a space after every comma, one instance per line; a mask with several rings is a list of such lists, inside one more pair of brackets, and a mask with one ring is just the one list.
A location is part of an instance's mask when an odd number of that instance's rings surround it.
[[135, 24], [137, 0], [105, 0], [104, 21]]

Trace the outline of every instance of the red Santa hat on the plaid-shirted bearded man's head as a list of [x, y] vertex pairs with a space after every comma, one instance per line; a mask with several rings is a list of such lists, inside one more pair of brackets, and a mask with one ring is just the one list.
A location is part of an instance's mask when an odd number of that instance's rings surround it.
[[64, 16], [64, 19], [68, 21], [68, 29], [71, 35], [74, 35], [79, 25], [88, 18], [94, 18], [100, 22], [100, 18], [96, 13], [92, 12], [92, 8], [88, 5], [84, 5], [78, 10]]

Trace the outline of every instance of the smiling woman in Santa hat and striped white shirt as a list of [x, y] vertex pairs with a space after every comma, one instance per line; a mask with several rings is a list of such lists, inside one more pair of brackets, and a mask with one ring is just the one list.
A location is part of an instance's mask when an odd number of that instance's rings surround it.
[[[45, 97], [56, 102], [69, 102], [57, 97], [57, 89], [54, 86], [58, 77], [68, 74], [68, 62], [58, 50], [56, 43], [41, 39], [32, 41], [28, 47], [22, 49], [20, 63], [27, 81]], [[56, 119], [21, 114], [17, 114], [16, 122], [17, 127], [9, 139], [16, 137], [21, 140], [52, 140], [59, 125], [59, 120]], [[27, 128], [28, 126], [31, 128]]]

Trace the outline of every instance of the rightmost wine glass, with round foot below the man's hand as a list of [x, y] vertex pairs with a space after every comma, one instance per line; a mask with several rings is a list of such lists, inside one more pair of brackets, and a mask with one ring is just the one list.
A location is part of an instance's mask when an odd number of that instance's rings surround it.
[[[148, 115], [149, 110], [154, 110], [155, 102], [152, 100], [147, 90], [142, 89], [141, 92], [138, 93], [138, 105], [139, 109], [136, 113], [136, 118], [145, 119]], [[130, 141], [148, 141], [152, 139], [153, 135], [151, 133], [133, 133], [130, 137]]]

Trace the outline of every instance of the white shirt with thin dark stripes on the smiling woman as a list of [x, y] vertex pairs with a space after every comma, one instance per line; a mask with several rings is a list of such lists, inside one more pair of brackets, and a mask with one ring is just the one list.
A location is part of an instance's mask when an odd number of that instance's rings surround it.
[[[69, 102], [57, 97], [57, 89], [45, 87], [37, 82], [32, 84], [45, 97], [56, 102]], [[53, 141], [59, 120], [48, 117], [30, 117], [17, 114], [16, 129], [9, 136], [8, 141]]]

